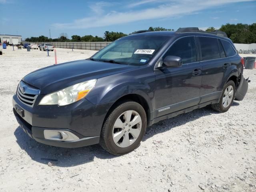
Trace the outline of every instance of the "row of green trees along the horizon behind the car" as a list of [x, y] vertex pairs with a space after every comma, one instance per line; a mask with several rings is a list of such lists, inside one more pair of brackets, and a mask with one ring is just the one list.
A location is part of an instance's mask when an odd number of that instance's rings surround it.
[[[174, 29], [167, 29], [163, 27], [149, 27], [149, 31], [174, 31]], [[206, 29], [208, 32], [213, 32], [216, 30], [214, 27], [209, 27]], [[220, 27], [221, 31], [226, 32], [228, 38], [230, 38], [234, 43], [250, 44], [256, 43], [256, 23], [253, 24], [225, 24]], [[132, 33], [131, 33], [132, 34]], [[112, 42], [121, 37], [127, 36], [128, 34], [122, 32], [109, 32], [104, 33], [104, 37], [92, 36], [92, 35], [72, 35], [71, 39], [68, 38], [66, 33], [61, 33], [59, 38], [48, 38], [46, 36], [30, 37], [26, 38], [25, 41], [28, 42]]]

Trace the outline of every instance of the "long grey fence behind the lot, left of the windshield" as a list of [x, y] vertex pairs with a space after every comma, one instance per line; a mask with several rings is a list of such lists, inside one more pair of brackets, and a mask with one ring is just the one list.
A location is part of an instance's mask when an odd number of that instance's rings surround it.
[[38, 45], [43, 43], [52, 44], [57, 48], [74, 48], [74, 49], [88, 49], [88, 50], [101, 50], [112, 42], [26, 42], [24, 43], [36, 43]]

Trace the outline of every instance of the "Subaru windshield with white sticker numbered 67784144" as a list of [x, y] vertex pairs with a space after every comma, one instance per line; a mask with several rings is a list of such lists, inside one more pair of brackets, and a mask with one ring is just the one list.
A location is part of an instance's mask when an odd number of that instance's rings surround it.
[[91, 60], [126, 65], [147, 64], [170, 37], [127, 36], [120, 38], [92, 56]]

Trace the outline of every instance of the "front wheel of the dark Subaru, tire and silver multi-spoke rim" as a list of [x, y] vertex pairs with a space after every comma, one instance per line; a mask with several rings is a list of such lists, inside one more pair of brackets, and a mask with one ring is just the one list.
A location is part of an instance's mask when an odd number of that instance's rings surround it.
[[[130, 120], [126, 121], [125, 116], [129, 116], [130, 113]], [[140, 122], [133, 125], [132, 121], [134, 120]], [[114, 124], [121, 125], [114, 128]], [[146, 112], [140, 104], [130, 100], [121, 102], [108, 113], [104, 121], [100, 134], [100, 145], [114, 155], [131, 152], [140, 144], [146, 132], [146, 126]], [[137, 136], [134, 137], [135, 133]], [[115, 137], [114, 135], [117, 136]], [[120, 139], [118, 140], [119, 137]], [[114, 138], [116, 138], [116, 141], [114, 141]]]

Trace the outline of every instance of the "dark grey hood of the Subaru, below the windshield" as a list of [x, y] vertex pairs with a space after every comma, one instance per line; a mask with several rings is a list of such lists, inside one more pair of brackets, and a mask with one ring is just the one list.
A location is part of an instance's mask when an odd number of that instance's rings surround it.
[[49, 94], [86, 80], [98, 79], [134, 68], [138, 66], [77, 60], [36, 70], [22, 80], [39, 88], [40, 94]]

